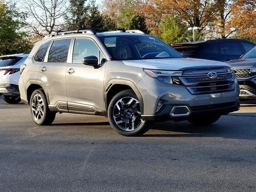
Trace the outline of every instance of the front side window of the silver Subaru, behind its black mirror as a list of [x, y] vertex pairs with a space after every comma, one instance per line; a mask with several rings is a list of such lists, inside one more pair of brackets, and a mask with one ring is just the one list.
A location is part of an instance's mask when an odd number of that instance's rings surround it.
[[73, 51], [73, 63], [82, 63], [82, 58], [96, 56], [99, 58], [100, 50], [90, 39], [76, 39]]

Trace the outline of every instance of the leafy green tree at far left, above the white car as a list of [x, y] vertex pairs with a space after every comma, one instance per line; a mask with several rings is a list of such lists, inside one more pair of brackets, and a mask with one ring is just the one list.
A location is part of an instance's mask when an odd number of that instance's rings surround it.
[[25, 26], [18, 20], [21, 15], [0, 0], [0, 55], [28, 52], [32, 44], [20, 29]]

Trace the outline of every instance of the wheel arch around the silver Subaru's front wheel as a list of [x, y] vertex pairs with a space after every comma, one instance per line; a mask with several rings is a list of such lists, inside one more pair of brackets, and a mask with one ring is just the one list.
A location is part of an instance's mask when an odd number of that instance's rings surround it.
[[138, 100], [140, 102], [140, 111], [141, 111], [141, 114], [143, 114], [143, 109], [144, 109], [143, 98], [138, 88], [135, 86], [135, 84], [128, 80], [112, 79], [106, 84], [104, 88], [104, 104], [106, 109], [105, 110], [106, 116], [108, 116], [108, 105], [111, 99], [119, 92], [123, 90], [129, 90], [129, 89], [133, 90], [133, 92], [138, 97]]

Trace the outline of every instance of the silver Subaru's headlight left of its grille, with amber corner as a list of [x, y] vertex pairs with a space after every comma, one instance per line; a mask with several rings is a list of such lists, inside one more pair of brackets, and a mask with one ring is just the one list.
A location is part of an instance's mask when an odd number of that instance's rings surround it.
[[182, 76], [182, 71], [167, 71], [167, 70], [150, 70], [144, 69], [144, 72], [152, 77], [158, 79], [162, 83], [172, 84], [172, 76]]

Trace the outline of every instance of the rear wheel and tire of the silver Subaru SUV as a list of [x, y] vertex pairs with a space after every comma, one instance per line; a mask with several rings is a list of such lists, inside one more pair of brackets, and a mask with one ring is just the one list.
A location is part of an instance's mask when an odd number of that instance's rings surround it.
[[49, 110], [46, 96], [42, 89], [35, 90], [30, 97], [30, 114], [38, 125], [50, 125], [55, 119], [56, 112]]

